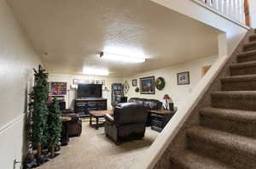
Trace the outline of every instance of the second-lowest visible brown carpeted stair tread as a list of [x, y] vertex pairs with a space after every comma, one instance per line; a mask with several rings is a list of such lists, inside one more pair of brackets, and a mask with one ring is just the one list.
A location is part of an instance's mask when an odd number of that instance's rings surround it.
[[236, 152], [242, 155], [256, 155], [256, 140], [230, 132], [222, 132], [207, 127], [190, 127], [187, 135], [191, 139], [201, 140], [206, 144], [225, 149], [227, 151]]

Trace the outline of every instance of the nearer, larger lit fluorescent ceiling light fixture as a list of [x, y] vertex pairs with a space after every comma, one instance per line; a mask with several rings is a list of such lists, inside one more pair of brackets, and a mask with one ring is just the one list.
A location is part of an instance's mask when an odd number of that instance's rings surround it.
[[121, 61], [121, 62], [129, 62], [129, 63], [143, 63], [143, 62], [146, 61], [145, 58], [126, 56], [126, 55], [123, 55], [123, 54], [110, 54], [110, 53], [105, 53], [105, 52], [101, 52], [100, 57], [102, 59], [108, 59], [108, 60], [113, 60], [113, 61]]

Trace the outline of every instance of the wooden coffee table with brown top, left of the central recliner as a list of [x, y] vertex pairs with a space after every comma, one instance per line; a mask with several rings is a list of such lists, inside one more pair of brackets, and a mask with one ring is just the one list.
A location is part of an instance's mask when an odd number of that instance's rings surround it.
[[[92, 122], [96, 122], [95, 128], [96, 130], [100, 127], [100, 125], [104, 124], [105, 121], [99, 121], [99, 118], [104, 117], [104, 115], [113, 115], [113, 110], [91, 110], [89, 111], [90, 115], [90, 126], [93, 127]], [[92, 117], [96, 118], [96, 121], [92, 121]]]

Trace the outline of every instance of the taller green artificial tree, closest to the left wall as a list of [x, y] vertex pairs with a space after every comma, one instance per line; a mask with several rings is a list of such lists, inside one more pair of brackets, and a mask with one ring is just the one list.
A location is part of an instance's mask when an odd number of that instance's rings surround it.
[[38, 66], [38, 70], [34, 70], [35, 85], [32, 88], [32, 93], [30, 93], [30, 103], [29, 103], [29, 114], [30, 114], [30, 126], [31, 134], [30, 140], [33, 147], [38, 149], [38, 158], [41, 157], [42, 144], [46, 144], [48, 141], [48, 73], [42, 68], [41, 65]]

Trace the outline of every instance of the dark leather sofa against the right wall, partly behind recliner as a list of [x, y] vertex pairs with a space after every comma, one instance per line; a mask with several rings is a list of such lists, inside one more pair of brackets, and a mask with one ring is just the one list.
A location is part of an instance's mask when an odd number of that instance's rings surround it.
[[[163, 103], [157, 99], [131, 98], [131, 99], [129, 99], [129, 102], [135, 102], [137, 104], [142, 104], [148, 109], [148, 111], [149, 110], [161, 110], [162, 105], [163, 105]], [[148, 118], [147, 118], [147, 126], [151, 126], [151, 119], [150, 119], [149, 113], [148, 113]]]

